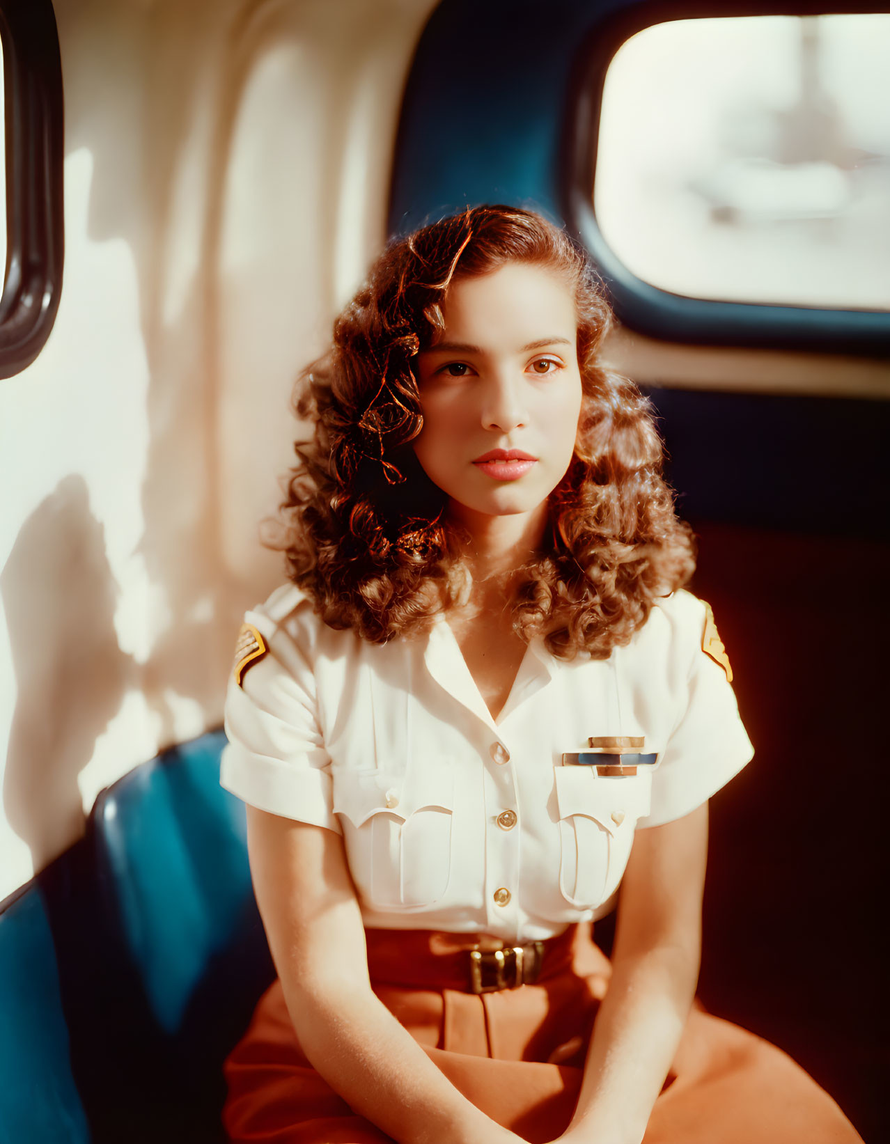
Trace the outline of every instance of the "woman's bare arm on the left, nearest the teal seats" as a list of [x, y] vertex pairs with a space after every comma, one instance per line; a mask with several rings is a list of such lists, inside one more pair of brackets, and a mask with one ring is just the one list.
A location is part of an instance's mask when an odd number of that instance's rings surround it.
[[510, 1144], [372, 992], [361, 913], [340, 835], [247, 808], [256, 900], [307, 1057], [399, 1144]]

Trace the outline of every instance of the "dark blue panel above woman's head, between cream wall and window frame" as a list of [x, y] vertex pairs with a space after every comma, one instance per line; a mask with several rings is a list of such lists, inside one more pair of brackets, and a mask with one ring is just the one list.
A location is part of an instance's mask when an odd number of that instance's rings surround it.
[[405, 92], [390, 230], [407, 233], [479, 202], [559, 217], [571, 61], [591, 19], [620, 3], [445, 0]]

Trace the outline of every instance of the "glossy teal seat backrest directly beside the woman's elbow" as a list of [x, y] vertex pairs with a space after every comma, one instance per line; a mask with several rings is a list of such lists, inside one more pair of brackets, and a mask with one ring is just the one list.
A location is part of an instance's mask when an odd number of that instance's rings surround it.
[[96, 801], [96, 871], [180, 1075], [221, 1103], [220, 1066], [273, 969], [247, 864], [244, 804], [220, 786], [222, 731], [166, 752]]

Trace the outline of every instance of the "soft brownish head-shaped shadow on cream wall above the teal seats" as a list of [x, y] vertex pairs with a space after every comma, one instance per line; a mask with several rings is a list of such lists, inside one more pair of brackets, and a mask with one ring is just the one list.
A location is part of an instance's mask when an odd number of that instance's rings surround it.
[[37, 869], [82, 834], [78, 774], [135, 685], [114, 630], [117, 596], [86, 483], [65, 477], [24, 523], [0, 573], [18, 684], [3, 805]]

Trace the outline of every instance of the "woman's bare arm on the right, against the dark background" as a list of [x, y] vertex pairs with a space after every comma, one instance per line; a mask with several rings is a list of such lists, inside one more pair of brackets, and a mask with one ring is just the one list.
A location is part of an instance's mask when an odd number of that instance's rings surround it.
[[639, 1144], [696, 993], [708, 807], [638, 831], [621, 884], [612, 978], [561, 1141]]

